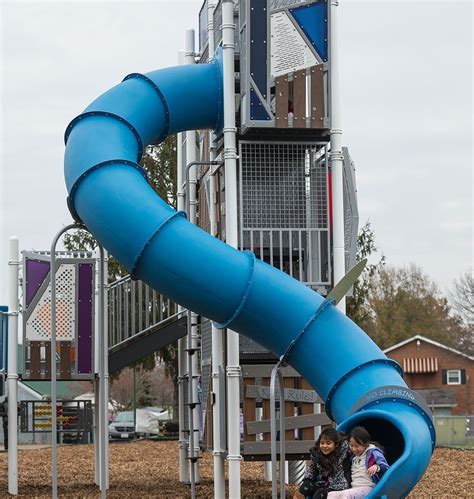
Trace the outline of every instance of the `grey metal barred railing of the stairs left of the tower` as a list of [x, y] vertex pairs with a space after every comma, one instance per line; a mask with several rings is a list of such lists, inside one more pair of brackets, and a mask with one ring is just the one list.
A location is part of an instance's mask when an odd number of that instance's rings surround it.
[[175, 302], [142, 281], [122, 277], [109, 286], [109, 349], [178, 316]]

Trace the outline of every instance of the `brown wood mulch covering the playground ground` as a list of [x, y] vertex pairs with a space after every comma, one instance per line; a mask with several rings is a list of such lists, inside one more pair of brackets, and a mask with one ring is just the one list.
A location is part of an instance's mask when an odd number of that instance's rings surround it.
[[[204, 454], [198, 497], [214, 497], [213, 457]], [[51, 497], [51, 451], [19, 452], [19, 497]], [[7, 454], [0, 453], [0, 497], [7, 496]], [[139, 441], [110, 445], [109, 498], [190, 497], [189, 486], [178, 481], [178, 442]], [[269, 498], [271, 484], [263, 479], [262, 463], [241, 465], [242, 498]], [[94, 448], [69, 445], [58, 448], [58, 493], [60, 497], [100, 497], [94, 485]], [[296, 487], [287, 487], [292, 497]], [[411, 498], [474, 497], [474, 451], [436, 449], [430, 467]]]

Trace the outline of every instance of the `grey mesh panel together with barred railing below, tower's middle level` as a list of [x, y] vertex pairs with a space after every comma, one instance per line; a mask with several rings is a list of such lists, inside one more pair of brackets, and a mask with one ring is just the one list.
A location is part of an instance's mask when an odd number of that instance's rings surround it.
[[326, 152], [240, 142], [240, 247], [311, 286], [330, 276]]

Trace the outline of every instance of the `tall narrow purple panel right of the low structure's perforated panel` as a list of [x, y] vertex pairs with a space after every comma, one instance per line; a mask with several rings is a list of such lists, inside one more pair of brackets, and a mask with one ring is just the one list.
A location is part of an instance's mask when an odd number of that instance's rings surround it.
[[94, 289], [92, 287], [93, 265], [79, 264], [79, 303], [77, 314], [77, 372], [92, 373], [92, 303]]

